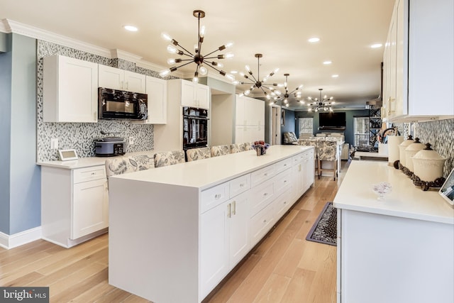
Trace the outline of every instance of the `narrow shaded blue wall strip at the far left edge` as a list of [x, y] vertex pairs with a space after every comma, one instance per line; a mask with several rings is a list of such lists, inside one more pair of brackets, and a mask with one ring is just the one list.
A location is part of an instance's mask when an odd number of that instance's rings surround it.
[[[11, 41], [11, 34], [0, 33], [4, 40]], [[10, 179], [11, 170], [11, 52], [0, 53], [0, 232], [9, 233]]]

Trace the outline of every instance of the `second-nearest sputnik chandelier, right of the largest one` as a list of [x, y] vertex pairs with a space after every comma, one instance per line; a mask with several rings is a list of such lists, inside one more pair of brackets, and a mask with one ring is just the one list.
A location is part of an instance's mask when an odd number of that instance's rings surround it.
[[[245, 95], [245, 96], [248, 96], [248, 94], [250, 94], [250, 92], [252, 92], [254, 89], [261, 89], [262, 92], [265, 94], [265, 97], [270, 100], [271, 98], [277, 100], [277, 98], [282, 94], [281, 92], [279, 92], [279, 90], [273, 88], [273, 87], [269, 87], [269, 85], [272, 85], [274, 87], [277, 87], [277, 83], [273, 83], [273, 84], [266, 84], [265, 82], [267, 82], [267, 79], [269, 77], [272, 77], [272, 75], [275, 75], [275, 73], [279, 70], [279, 68], [277, 68], [276, 70], [274, 70], [273, 72], [270, 72], [269, 75], [267, 75], [265, 78], [262, 79], [262, 81], [260, 81], [260, 58], [263, 57], [262, 54], [255, 54], [254, 55], [256, 58], [257, 58], [257, 78], [254, 77], [253, 75], [253, 72], [250, 70], [250, 67], [249, 65], [246, 65], [245, 66], [245, 69], [246, 69], [246, 72], [249, 74], [249, 75], [246, 75], [246, 73], [244, 72], [240, 72], [240, 75], [245, 77], [245, 79], [247, 79], [249, 82], [237, 82], [237, 84], [252, 84], [250, 89], [246, 89], [245, 92], [243, 92], [243, 94], [240, 94], [241, 95]], [[270, 91], [270, 93], [268, 94], [265, 89], [267, 89], [268, 91]]]

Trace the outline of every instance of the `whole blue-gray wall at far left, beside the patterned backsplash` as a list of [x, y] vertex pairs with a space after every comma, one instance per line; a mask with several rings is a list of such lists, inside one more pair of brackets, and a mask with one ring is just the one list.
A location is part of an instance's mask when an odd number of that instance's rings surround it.
[[[17, 34], [8, 36], [11, 51], [0, 59], [0, 87], [5, 91], [1, 94], [1, 141], [4, 144], [0, 158], [9, 160], [6, 165], [1, 163], [0, 231], [13, 234], [41, 224], [40, 167], [35, 164], [35, 39]], [[3, 72], [4, 66], [6, 72]]]

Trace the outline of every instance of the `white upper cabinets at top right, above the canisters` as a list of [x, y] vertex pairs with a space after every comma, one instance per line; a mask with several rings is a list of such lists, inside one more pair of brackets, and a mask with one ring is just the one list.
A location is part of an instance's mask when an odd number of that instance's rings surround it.
[[453, 118], [453, 53], [452, 0], [397, 0], [383, 56], [383, 117]]

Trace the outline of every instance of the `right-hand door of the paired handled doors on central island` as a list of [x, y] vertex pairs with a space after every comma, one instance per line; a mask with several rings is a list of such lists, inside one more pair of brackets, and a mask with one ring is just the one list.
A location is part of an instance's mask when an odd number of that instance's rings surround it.
[[230, 216], [228, 216], [229, 268], [233, 268], [250, 248], [248, 193], [240, 194], [228, 203], [231, 205]]

